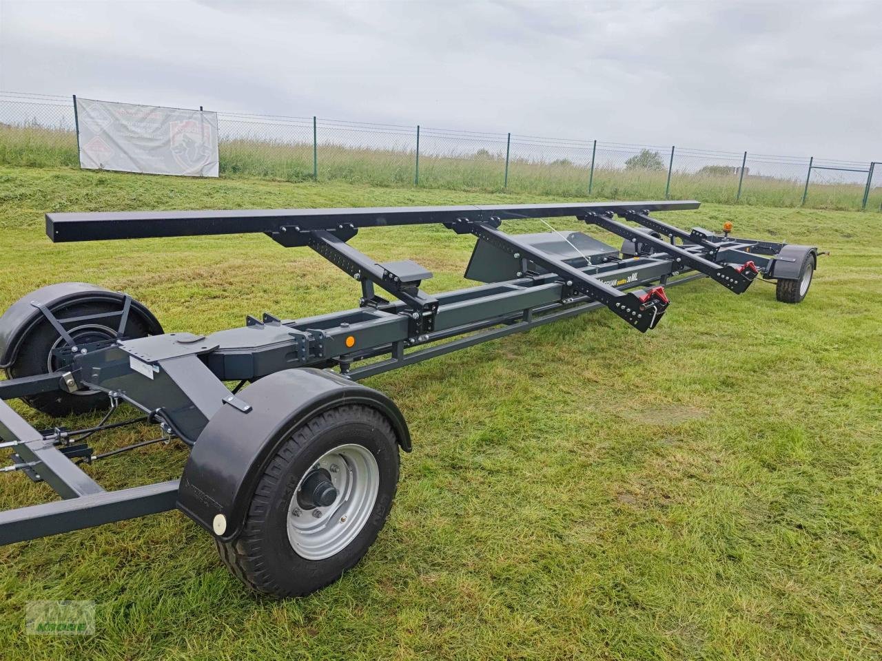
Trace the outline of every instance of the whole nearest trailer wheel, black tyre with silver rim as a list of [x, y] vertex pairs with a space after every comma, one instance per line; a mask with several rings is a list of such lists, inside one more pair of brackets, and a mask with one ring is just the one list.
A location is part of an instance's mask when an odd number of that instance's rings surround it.
[[364, 405], [319, 413], [280, 445], [251, 498], [242, 533], [215, 539], [221, 561], [253, 590], [301, 597], [367, 553], [392, 509], [398, 442]]

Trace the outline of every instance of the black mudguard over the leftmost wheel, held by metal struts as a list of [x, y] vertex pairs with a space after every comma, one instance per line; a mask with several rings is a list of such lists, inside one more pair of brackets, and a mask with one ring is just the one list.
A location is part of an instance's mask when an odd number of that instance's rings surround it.
[[[41, 303], [50, 312], [55, 312], [72, 302], [114, 301], [122, 305], [124, 299], [123, 293], [85, 282], [62, 282], [44, 286], [22, 296], [0, 317], [0, 368], [8, 368], [15, 362], [22, 340], [44, 318], [40, 309], [31, 305], [32, 302]], [[130, 315], [141, 316], [151, 335], [162, 334], [162, 326], [143, 303], [132, 299]]]

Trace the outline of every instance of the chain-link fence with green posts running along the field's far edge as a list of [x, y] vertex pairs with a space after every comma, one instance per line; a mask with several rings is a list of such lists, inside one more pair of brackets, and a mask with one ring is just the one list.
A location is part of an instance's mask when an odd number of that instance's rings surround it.
[[[882, 163], [218, 113], [221, 176], [882, 211]], [[78, 165], [69, 97], [0, 93], [0, 163]]]

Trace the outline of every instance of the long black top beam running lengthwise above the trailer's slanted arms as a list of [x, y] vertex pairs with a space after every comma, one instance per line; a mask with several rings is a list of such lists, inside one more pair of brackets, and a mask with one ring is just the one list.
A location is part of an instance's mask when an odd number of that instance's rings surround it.
[[571, 204], [490, 204], [467, 206], [364, 207], [352, 209], [255, 209], [168, 212], [47, 213], [52, 241], [98, 241], [202, 234], [277, 234], [282, 227], [333, 231], [340, 226], [385, 227], [450, 223], [467, 218], [513, 220], [582, 216], [587, 213], [663, 212], [697, 209], [694, 200]]

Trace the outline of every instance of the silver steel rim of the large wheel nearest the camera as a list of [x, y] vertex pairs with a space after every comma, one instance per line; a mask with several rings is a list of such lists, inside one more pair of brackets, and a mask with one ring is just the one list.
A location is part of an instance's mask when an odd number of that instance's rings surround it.
[[[330, 473], [337, 498], [328, 507], [303, 509], [297, 494], [318, 469]], [[301, 477], [288, 505], [288, 541], [295, 553], [306, 560], [340, 553], [368, 523], [379, 486], [377, 459], [363, 445], [348, 443], [325, 452]]]

